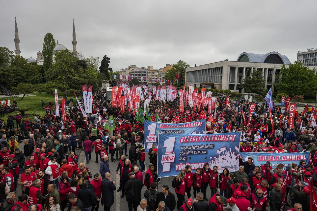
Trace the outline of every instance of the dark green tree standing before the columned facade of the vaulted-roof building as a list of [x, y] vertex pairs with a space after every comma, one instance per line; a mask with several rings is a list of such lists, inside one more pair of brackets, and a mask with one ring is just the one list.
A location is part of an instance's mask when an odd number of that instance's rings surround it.
[[268, 90], [265, 88], [261, 70], [253, 70], [251, 76], [246, 76], [241, 84], [245, 93], [256, 93], [265, 96]]

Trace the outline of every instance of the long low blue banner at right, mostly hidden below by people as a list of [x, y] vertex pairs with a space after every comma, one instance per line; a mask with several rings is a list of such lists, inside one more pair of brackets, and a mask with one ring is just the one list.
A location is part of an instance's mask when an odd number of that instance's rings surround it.
[[299, 164], [301, 160], [304, 160], [306, 164], [309, 164], [310, 161], [309, 152], [240, 152], [240, 156], [243, 158], [243, 162], [247, 161], [249, 156], [253, 157], [253, 164], [258, 166], [265, 165], [267, 161], [270, 161], [273, 169], [280, 163], [286, 167], [292, 166], [292, 163]]

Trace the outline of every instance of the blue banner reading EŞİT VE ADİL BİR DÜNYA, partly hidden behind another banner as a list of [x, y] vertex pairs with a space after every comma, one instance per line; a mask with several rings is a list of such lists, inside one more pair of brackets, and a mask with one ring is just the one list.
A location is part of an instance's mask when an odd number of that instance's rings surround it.
[[152, 144], [157, 146], [158, 134], [205, 134], [206, 119], [179, 124], [169, 124], [144, 120], [145, 151], [149, 152]]

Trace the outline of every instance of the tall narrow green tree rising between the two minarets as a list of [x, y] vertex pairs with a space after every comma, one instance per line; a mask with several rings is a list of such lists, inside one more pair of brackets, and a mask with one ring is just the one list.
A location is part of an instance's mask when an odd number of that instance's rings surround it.
[[56, 46], [53, 34], [47, 33], [44, 36], [44, 43], [43, 43], [43, 66], [44, 70], [48, 70], [52, 66], [53, 61], [53, 51]]

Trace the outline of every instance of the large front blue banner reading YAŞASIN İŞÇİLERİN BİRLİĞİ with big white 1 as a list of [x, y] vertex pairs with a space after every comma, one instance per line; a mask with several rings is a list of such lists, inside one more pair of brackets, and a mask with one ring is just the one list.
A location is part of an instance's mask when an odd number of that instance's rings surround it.
[[239, 142], [241, 132], [200, 135], [159, 134], [158, 176], [176, 176], [186, 165], [191, 169], [218, 166], [222, 172], [239, 169]]

